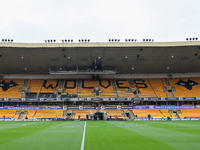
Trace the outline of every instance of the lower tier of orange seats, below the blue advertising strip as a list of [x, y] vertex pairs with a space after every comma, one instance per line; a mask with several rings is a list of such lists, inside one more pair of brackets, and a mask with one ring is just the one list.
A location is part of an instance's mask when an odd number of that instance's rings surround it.
[[[130, 115], [126, 114], [133, 112], [134, 118], [148, 117], [175, 117], [179, 119], [184, 117], [200, 117], [200, 109], [177, 109], [173, 113], [171, 109], [102, 109], [101, 112], [105, 115], [105, 119], [122, 119], [129, 120]], [[87, 120], [87, 116], [92, 118], [97, 111], [89, 110], [0, 110], [0, 118], [71, 118], [73, 120]]]

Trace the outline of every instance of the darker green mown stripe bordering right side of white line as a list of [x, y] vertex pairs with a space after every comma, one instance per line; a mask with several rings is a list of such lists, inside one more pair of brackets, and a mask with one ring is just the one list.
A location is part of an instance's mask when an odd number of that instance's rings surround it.
[[[154, 139], [128, 131], [117, 126], [119, 122], [88, 122], [86, 129], [86, 150], [133, 150], [133, 149], [175, 149]], [[127, 123], [128, 124], [128, 123]], [[97, 126], [97, 127], [95, 127]]]

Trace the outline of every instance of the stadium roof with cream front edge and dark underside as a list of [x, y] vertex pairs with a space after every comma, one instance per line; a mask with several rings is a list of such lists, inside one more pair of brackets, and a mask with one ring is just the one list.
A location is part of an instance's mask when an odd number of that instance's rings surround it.
[[0, 43], [0, 73], [102, 70], [120, 74], [200, 72], [200, 41], [108, 43]]

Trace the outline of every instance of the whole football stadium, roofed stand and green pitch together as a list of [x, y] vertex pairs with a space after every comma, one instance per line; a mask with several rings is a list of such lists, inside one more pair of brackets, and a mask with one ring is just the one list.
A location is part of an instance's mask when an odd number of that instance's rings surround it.
[[0, 149], [199, 149], [200, 42], [0, 43]]

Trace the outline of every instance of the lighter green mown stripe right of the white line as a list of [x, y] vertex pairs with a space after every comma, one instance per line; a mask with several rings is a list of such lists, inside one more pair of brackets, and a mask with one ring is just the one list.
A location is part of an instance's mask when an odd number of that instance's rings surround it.
[[[188, 128], [189, 133], [185, 133], [185, 131], [176, 131], [174, 130], [174, 126], [169, 126], [168, 124], [160, 124], [160, 122], [155, 121], [132, 121], [128, 122], [128, 124], [131, 124], [132, 127], [127, 127], [126, 122], [119, 122], [111, 124], [116, 124], [117, 126], [120, 126], [121, 128], [124, 128], [126, 130], [129, 130], [131, 132], [140, 134], [142, 136], [146, 136], [148, 138], [151, 138], [153, 140], [156, 140], [160, 143], [166, 144], [168, 146], [174, 147], [176, 149], [199, 149], [200, 147], [200, 130], [196, 130], [198, 134], [192, 134], [193, 132], [192, 128]], [[146, 126], [137, 126], [137, 124], [147, 124]], [[172, 122], [176, 123], [176, 122]], [[184, 124], [184, 122], [182, 122]], [[157, 127], [163, 126], [161, 127]], [[191, 122], [192, 124], [192, 122]], [[200, 124], [200, 122], [199, 122]]]

